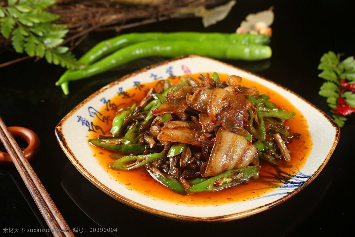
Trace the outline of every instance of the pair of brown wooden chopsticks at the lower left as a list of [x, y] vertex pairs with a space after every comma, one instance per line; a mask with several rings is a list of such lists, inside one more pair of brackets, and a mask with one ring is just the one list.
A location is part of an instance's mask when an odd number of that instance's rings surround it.
[[28, 191], [31, 193], [33, 200], [38, 206], [44, 220], [50, 229], [67, 230], [67, 232], [53, 232], [54, 236], [74, 236], [70, 227], [60, 214], [58, 208], [50, 198], [47, 190], [45, 190], [42, 182], [39, 180], [37, 174], [34, 172], [32, 166], [23, 155], [21, 148], [7, 129], [4, 121], [0, 117], [0, 140], [5, 146], [7, 153], [9, 153], [13, 164], [18, 173], [26, 184]]

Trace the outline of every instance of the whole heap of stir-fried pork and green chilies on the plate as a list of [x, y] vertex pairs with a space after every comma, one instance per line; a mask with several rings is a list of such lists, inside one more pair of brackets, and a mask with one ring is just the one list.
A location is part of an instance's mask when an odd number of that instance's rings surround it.
[[247, 183], [258, 177], [259, 160], [289, 162], [287, 144], [301, 135], [284, 125], [294, 112], [241, 82], [234, 75], [221, 81], [217, 73], [176, 85], [167, 79], [139, 104], [120, 109], [111, 135], [89, 142], [117, 152], [111, 169], [146, 169], [181, 194]]

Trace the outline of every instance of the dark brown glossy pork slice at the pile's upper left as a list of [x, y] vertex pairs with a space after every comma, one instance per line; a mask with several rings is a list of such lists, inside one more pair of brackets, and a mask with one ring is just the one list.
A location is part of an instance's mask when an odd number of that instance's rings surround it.
[[166, 101], [153, 111], [154, 115], [178, 114], [185, 111], [188, 107], [186, 95], [192, 93], [191, 86], [184, 86], [170, 95], [166, 96]]

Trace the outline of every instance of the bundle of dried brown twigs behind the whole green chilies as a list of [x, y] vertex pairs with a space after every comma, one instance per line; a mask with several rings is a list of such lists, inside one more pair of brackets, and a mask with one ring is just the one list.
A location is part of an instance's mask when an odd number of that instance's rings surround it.
[[[151, 5], [124, 5], [113, 0], [58, 0], [49, 9], [59, 15], [55, 21], [69, 29], [65, 41], [71, 42], [70, 50], [82, 42], [92, 31], [116, 31], [141, 26], [171, 18], [190, 18], [195, 14], [178, 14], [182, 9], [195, 9], [207, 5], [220, 5], [228, 0], [162, 0]], [[0, 3], [3, 5], [3, 3]], [[11, 41], [0, 34], [0, 47], [9, 48]], [[0, 67], [31, 58], [25, 56]]]

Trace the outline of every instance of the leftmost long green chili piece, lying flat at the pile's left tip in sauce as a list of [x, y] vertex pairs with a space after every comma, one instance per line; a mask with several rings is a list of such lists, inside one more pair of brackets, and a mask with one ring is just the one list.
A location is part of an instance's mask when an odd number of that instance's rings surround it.
[[118, 151], [124, 154], [143, 154], [144, 145], [138, 144], [114, 144], [111, 139], [89, 139], [89, 142], [95, 146], [100, 146], [112, 151]]

